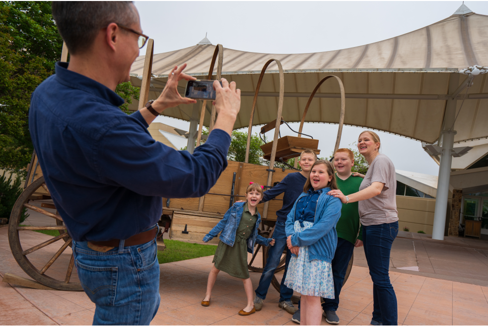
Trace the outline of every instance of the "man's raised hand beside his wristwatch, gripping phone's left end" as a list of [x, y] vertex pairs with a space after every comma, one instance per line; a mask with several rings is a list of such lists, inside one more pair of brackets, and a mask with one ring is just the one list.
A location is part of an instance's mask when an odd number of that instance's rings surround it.
[[152, 108], [155, 109], [156, 112], [161, 113], [165, 109], [174, 108], [180, 104], [197, 103], [197, 100], [182, 97], [180, 93], [178, 93], [178, 82], [180, 80], [197, 79], [183, 73], [183, 69], [185, 69], [185, 67], [186, 63], [182, 64], [179, 68], [178, 66], [175, 66], [169, 73], [168, 81], [166, 82], [166, 86], [164, 86], [161, 95], [159, 95], [158, 99], [152, 103]]

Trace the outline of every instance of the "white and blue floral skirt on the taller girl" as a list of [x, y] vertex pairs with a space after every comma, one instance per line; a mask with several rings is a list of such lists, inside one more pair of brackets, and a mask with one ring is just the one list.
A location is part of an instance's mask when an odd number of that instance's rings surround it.
[[[312, 222], [295, 221], [295, 232], [301, 232], [312, 227]], [[310, 295], [322, 298], [334, 299], [334, 278], [332, 266], [325, 261], [308, 259], [308, 246], [300, 247], [298, 257], [291, 255], [290, 264], [284, 285], [302, 295]]]

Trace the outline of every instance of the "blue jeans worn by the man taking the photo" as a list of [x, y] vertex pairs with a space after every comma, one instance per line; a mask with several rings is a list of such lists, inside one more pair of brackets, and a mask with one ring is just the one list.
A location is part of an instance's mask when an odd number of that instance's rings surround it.
[[73, 240], [78, 278], [95, 303], [93, 325], [149, 325], [159, 308], [156, 240], [107, 252]]

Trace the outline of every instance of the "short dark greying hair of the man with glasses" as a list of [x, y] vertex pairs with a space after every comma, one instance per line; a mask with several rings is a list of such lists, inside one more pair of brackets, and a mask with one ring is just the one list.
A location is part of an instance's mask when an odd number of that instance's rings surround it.
[[71, 54], [90, 48], [98, 31], [110, 23], [130, 26], [139, 17], [133, 1], [53, 1], [53, 17]]

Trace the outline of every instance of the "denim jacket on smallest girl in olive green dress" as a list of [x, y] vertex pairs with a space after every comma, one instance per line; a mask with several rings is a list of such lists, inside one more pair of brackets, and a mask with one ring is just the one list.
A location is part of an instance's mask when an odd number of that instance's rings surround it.
[[[242, 212], [244, 211], [244, 204], [246, 203], [235, 203], [232, 205], [220, 222], [218, 222], [218, 224], [210, 230], [209, 234], [204, 237], [204, 242], [209, 242], [211, 239], [213, 239], [213, 237], [218, 235], [218, 232], [222, 231], [218, 237], [220, 241], [233, 247], [235, 242], [235, 234], [237, 232], [237, 228], [239, 227], [239, 222], [241, 221]], [[250, 254], [254, 254], [255, 243], [263, 246], [269, 246], [270, 242], [273, 240], [272, 238], [267, 239], [258, 234], [261, 215], [259, 215], [257, 210], [256, 213], [258, 213], [258, 220], [254, 226], [252, 233], [253, 236], [250, 236], [249, 239], [247, 239], [247, 252]]]

